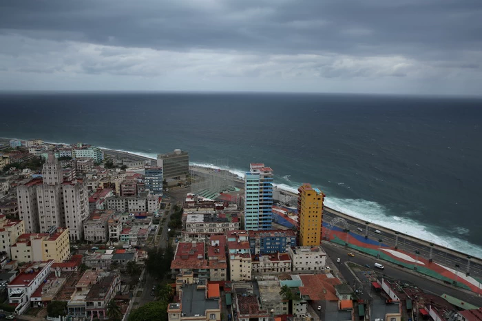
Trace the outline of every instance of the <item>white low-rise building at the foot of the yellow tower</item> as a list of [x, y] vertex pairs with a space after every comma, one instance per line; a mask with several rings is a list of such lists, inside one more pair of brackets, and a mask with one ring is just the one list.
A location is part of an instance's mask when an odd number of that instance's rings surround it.
[[293, 272], [322, 271], [326, 265], [326, 253], [322, 247], [290, 247], [288, 254], [293, 262]]

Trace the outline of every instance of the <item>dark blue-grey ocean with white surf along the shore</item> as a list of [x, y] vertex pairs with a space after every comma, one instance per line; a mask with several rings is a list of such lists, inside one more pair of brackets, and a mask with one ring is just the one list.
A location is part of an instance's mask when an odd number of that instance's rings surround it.
[[[0, 136], [251, 162], [327, 205], [482, 256], [482, 100], [328, 94], [0, 94]], [[286, 178], [283, 178], [285, 176]]]

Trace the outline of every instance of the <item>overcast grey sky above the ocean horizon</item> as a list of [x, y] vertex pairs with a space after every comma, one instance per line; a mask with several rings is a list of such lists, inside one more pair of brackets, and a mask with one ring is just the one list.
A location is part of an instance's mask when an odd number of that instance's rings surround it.
[[482, 94], [481, 0], [0, 0], [0, 90]]

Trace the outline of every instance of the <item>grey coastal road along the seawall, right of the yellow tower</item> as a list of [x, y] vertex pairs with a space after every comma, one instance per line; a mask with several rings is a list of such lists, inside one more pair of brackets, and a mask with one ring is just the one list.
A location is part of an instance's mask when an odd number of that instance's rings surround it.
[[[470, 276], [481, 278], [482, 277], [482, 260], [480, 258], [471, 258], [466, 254], [441, 247], [439, 245], [430, 245], [430, 242], [407, 236], [406, 234], [385, 229], [374, 223], [365, 222], [347, 216], [346, 214], [339, 213], [333, 209], [325, 209], [323, 213], [323, 221], [329, 223], [334, 218], [341, 217], [348, 222], [348, 229], [350, 232], [364, 236], [366, 234], [366, 227], [368, 226], [368, 238], [372, 240], [381, 239], [382, 242], [392, 248], [397, 245], [398, 249], [412, 253], [414, 256], [415, 251], [419, 251], [419, 257], [430, 258], [430, 248], [432, 247], [432, 262], [439, 263], [445, 267], [458, 271], [458, 273], [470, 272]], [[342, 227], [343, 225], [337, 225]], [[360, 231], [361, 229], [362, 231]], [[381, 231], [381, 234], [375, 233], [375, 230]], [[397, 234], [398, 233], [398, 234]]]

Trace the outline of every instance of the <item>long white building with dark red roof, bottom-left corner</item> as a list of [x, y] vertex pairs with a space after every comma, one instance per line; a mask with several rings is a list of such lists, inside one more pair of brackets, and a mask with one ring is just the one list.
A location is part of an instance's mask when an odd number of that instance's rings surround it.
[[53, 260], [34, 262], [8, 284], [8, 302], [17, 304], [15, 310], [19, 314], [32, 307], [32, 295], [50, 274], [53, 263]]

